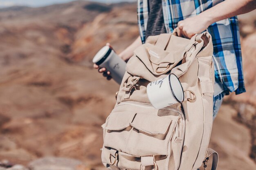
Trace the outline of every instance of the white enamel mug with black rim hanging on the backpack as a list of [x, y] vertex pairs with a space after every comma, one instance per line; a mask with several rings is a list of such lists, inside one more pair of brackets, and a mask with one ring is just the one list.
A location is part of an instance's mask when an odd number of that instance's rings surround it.
[[178, 77], [173, 73], [149, 83], [147, 95], [152, 106], [157, 109], [184, 101], [182, 85]]

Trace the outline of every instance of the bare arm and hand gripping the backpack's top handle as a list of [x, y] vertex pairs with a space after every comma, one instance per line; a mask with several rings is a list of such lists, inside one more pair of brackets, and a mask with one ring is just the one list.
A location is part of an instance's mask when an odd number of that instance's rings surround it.
[[214, 22], [248, 13], [256, 9], [256, 0], [225, 0], [202, 13], [178, 22], [179, 36], [191, 38], [196, 33], [206, 30]]

